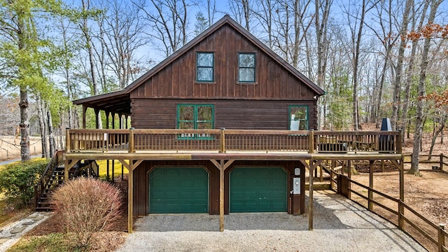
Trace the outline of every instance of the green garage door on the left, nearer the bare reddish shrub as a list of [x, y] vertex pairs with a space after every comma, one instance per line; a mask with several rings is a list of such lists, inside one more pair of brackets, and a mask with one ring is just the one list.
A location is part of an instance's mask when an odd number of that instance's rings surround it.
[[149, 174], [149, 212], [209, 212], [209, 175], [204, 168], [158, 167]]

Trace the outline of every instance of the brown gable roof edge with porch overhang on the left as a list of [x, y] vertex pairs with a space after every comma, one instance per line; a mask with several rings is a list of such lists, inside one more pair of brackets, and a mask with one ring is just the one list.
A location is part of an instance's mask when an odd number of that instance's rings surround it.
[[[168, 66], [169, 64], [174, 62], [174, 60], [179, 58], [184, 53], [188, 52], [188, 50], [193, 48], [195, 45], [200, 43], [200, 41], [202, 41], [204, 38], [214, 33], [216, 30], [223, 27], [224, 25], [230, 25], [232, 28], [234, 28], [236, 31], [242, 34], [245, 38], [248, 39], [248, 41], [251, 41], [251, 43], [256, 45], [258, 48], [260, 48], [260, 50], [269, 55], [269, 57], [272, 57], [272, 59], [274, 59], [281, 66], [287, 69], [291, 74], [293, 74], [293, 76], [301, 80], [311, 90], [316, 92], [316, 95], [321, 96], [325, 94], [325, 91], [323, 91], [321, 87], [318, 87], [318, 85], [314, 84], [311, 80], [309, 80], [309, 78], [304, 76], [302, 73], [300, 73], [300, 71], [298, 71], [288, 62], [286, 62], [286, 60], [284, 60], [279, 55], [277, 55], [273, 50], [268, 48], [267, 45], [258, 40], [258, 38], [255, 38], [255, 36], [253, 36], [250, 32], [244, 29], [244, 27], [241, 27], [241, 25], [239, 25], [235, 20], [230, 18], [229, 15], [225, 15], [223, 18], [221, 18], [221, 20], [218, 20], [218, 22], [216, 22], [214, 25], [211, 25], [211, 27], [203, 31], [199, 36], [193, 38], [193, 40], [188, 42], [186, 45], [184, 45], [182, 48], [174, 52], [172, 55], [164, 59], [158, 65], [153, 67], [153, 69], [144, 73], [144, 75], [140, 76], [137, 80], [134, 80], [134, 82], [125, 87], [125, 89], [108, 94], [99, 94], [93, 97], [77, 99], [73, 101], [73, 104], [76, 105], [83, 104], [84, 106], [104, 109], [105, 111], [130, 114], [131, 112], [130, 92], [132, 92], [132, 90], [139, 87], [139, 85], [148, 80], [148, 78], [151, 78], [153, 75], [155, 75], [155, 73], [158, 73], [158, 71], [164, 69], [165, 66]], [[122, 101], [118, 102], [117, 99], [121, 99]]]

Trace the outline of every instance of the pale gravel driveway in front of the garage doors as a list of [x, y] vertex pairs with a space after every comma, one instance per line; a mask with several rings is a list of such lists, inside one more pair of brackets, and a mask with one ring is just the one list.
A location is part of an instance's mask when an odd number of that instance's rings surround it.
[[426, 251], [383, 218], [330, 192], [314, 192], [308, 217], [286, 213], [151, 214], [139, 218], [118, 251]]

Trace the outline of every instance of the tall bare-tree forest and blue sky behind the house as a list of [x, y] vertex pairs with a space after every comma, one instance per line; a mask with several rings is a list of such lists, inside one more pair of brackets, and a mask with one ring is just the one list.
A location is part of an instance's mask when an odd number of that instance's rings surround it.
[[55, 134], [79, 127], [71, 100], [123, 89], [228, 14], [326, 91], [321, 129], [388, 117], [413, 134], [418, 160], [422, 132], [437, 136], [447, 120], [447, 10], [442, 0], [1, 1], [0, 132], [20, 134], [26, 160], [31, 125], [52, 155]]

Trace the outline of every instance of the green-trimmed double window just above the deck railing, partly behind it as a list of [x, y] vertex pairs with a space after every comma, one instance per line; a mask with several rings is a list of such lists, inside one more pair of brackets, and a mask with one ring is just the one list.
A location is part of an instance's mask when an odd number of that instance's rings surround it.
[[[177, 128], [211, 130], [214, 128], [214, 105], [179, 104], [177, 106]], [[180, 138], [208, 139], [209, 134], [181, 134]]]

